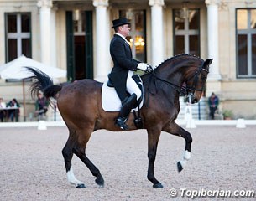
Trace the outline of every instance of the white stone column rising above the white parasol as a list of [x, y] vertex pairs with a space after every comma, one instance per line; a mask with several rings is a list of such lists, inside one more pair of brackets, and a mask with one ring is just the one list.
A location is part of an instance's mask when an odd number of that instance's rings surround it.
[[40, 9], [41, 62], [50, 64], [50, 9], [52, 7], [52, 1], [39, 0], [37, 6]]

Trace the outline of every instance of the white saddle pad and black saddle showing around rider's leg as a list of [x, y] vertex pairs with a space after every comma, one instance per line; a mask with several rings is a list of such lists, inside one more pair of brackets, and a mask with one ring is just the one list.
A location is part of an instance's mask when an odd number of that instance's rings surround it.
[[[134, 124], [137, 128], [142, 128], [142, 119], [140, 117], [140, 108], [144, 103], [144, 87], [143, 82], [139, 75], [133, 75], [133, 80], [135, 80], [139, 89], [141, 90], [141, 97], [137, 101], [137, 106], [131, 111], [134, 116]], [[122, 102], [120, 101], [114, 86], [110, 79], [103, 83], [102, 86], [102, 108], [104, 111], [120, 111]]]

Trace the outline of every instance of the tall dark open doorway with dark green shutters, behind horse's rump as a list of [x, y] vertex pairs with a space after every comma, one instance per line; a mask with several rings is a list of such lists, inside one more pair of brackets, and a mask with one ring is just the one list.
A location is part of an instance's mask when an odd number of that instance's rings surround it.
[[92, 13], [66, 12], [68, 80], [93, 79]]

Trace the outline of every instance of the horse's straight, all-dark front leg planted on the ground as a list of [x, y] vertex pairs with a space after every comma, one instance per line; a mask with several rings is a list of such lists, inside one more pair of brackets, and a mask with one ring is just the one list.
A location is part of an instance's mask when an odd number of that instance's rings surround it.
[[148, 168], [148, 179], [153, 183], [154, 188], [163, 188], [162, 184], [154, 177], [154, 161], [157, 151], [157, 145], [159, 142], [160, 129], [148, 129], [148, 157], [149, 157], [149, 168]]

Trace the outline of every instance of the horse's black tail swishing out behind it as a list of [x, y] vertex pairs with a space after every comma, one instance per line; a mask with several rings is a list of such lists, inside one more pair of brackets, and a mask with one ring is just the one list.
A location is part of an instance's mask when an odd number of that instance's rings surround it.
[[50, 79], [49, 75], [46, 75], [41, 70], [35, 70], [30, 67], [26, 67], [26, 70], [32, 72], [34, 75], [31, 77], [34, 79], [32, 85], [30, 86], [31, 96], [35, 99], [39, 93], [42, 91], [45, 98], [48, 100], [53, 97], [56, 99], [56, 95], [60, 92], [62, 86], [54, 85], [53, 80]]

